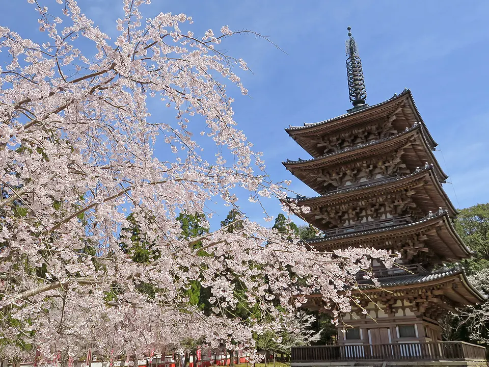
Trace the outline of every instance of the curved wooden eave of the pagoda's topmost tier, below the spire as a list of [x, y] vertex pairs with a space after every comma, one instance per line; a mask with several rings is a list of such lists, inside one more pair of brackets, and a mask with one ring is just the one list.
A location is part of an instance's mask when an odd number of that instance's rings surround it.
[[[316, 123], [305, 123], [304, 126], [289, 126], [289, 128], [286, 128], [285, 131], [295, 141], [297, 141], [297, 138], [300, 136], [310, 136], [312, 133], [327, 134], [329, 131], [344, 129], [346, 126], [349, 125], [349, 123], [354, 125], [355, 123], [364, 119], [371, 118], [371, 116], [374, 116], [376, 114], [392, 112], [390, 110], [385, 111], [386, 108], [389, 108], [391, 106], [393, 111], [396, 111], [397, 105], [403, 103], [404, 101], [409, 104], [409, 107], [415, 115], [416, 120], [419, 121], [423, 126], [423, 129], [425, 130], [425, 133], [428, 137], [430, 148], [433, 149], [438, 146], [437, 142], [433, 140], [431, 134], [429, 133], [429, 130], [427, 129], [426, 124], [424, 123], [423, 118], [421, 117], [418, 108], [416, 107], [413, 94], [409, 89], [404, 89], [402, 93], [395, 95], [394, 97], [389, 98], [383, 102], [374, 104], [373, 106], [369, 106], [351, 113], [346, 113], [344, 115], [329, 120], [324, 120]], [[300, 142], [297, 141], [297, 143], [302, 146]]]

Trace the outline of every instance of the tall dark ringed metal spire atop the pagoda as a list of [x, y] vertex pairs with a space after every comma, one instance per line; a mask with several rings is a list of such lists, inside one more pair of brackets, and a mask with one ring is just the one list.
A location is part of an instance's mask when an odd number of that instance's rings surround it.
[[348, 40], [346, 40], [346, 73], [348, 74], [348, 93], [354, 108], [365, 105], [367, 91], [363, 79], [362, 62], [358, 55], [357, 42], [351, 37], [351, 27], [348, 30]]

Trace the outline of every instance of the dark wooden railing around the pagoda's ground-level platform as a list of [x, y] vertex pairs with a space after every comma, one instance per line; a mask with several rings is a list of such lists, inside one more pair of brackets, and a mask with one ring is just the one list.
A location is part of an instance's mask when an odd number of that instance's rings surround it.
[[486, 360], [484, 347], [465, 342], [292, 347], [290, 361]]

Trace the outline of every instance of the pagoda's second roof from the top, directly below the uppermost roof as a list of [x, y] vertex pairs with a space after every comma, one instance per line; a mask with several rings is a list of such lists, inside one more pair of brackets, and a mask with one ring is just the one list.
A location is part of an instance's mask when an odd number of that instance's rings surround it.
[[418, 142], [418, 149], [415, 150], [413, 148], [413, 154], [411, 154], [411, 163], [417, 163], [419, 166], [424, 166], [426, 162], [433, 164], [438, 177], [441, 178], [442, 182], [445, 181], [448, 176], [443, 172], [431, 149], [428, 148], [423, 129], [419, 124], [415, 124], [414, 126], [407, 128], [402, 133], [381, 140], [371, 141], [368, 143], [359, 144], [354, 147], [344, 148], [341, 150], [337, 150], [333, 153], [325, 154], [318, 158], [312, 158], [309, 160], [287, 160], [286, 162], [282, 162], [282, 164], [288, 171], [292, 172], [294, 176], [306, 183], [306, 185], [308, 185], [318, 193], [321, 193], [321, 191], [323, 191], [321, 187], [321, 182], [313, 179], [310, 183], [308, 183], [306, 182], [307, 177], [301, 178], [300, 172], [298, 172], [299, 174], [296, 174], [294, 173], [294, 171], [324, 169], [327, 167], [344, 165], [348, 162], [373, 158], [381, 154], [388, 154], [389, 152], [399, 150], [406, 145], [409, 145], [413, 138], [415, 139], [415, 141]]

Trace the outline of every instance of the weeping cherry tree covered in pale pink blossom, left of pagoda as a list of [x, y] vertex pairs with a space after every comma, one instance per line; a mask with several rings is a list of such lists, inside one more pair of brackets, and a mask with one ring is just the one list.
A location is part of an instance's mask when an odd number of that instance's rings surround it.
[[[0, 357], [92, 348], [109, 360], [179, 351], [189, 335], [252, 350], [269, 320], [297, 325], [307, 295], [347, 311], [356, 274], [372, 258], [392, 264], [373, 249], [317, 252], [244, 214], [239, 231], [182, 237], [176, 217], [210, 217], [210, 201], [238, 205], [246, 191], [261, 211], [285, 196], [233, 119], [225, 82], [246, 94], [247, 65], [218, 45], [242, 32], [194, 36], [186, 15], [143, 19], [149, 1], [124, 0], [110, 38], [73, 0], [49, 3], [63, 19], [28, 2], [40, 43], [0, 27]], [[147, 261], [129, 255], [129, 214]], [[189, 301], [192, 282], [210, 310]], [[233, 316], [238, 305], [260, 318]]]

